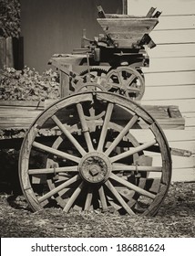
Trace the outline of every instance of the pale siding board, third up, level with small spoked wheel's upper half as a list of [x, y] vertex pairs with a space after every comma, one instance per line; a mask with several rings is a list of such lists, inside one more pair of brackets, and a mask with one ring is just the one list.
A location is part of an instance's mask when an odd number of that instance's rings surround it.
[[145, 81], [147, 88], [149, 86], [194, 85], [195, 71], [146, 73]]

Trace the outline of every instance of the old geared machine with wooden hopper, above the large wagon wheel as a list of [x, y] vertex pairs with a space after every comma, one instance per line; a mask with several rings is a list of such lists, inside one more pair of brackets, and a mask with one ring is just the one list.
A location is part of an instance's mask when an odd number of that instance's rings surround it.
[[147, 16], [107, 15], [98, 6], [97, 22], [104, 34], [88, 39], [86, 30], [81, 41], [82, 48], [74, 49], [71, 55], [55, 55], [52, 64], [64, 73], [67, 67], [79, 66], [71, 76], [71, 87], [63, 92], [80, 91], [85, 82], [97, 82], [102, 90], [125, 95], [129, 99], [141, 100], [145, 91], [141, 67], [149, 66], [145, 50], [154, 48], [149, 32], [159, 23], [159, 12], [154, 15], [151, 8]]

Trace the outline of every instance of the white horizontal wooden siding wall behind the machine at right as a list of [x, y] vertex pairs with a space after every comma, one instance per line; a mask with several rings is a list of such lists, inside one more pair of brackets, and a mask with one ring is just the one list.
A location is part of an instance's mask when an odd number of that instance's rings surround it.
[[180, 107], [185, 130], [164, 132], [170, 146], [193, 155], [172, 157], [172, 180], [195, 181], [195, 0], [128, 0], [128, 15], [146, 15], [151, 6], [162, 15], [150, 34], [157, 47], [149, 49], [142, 103]]

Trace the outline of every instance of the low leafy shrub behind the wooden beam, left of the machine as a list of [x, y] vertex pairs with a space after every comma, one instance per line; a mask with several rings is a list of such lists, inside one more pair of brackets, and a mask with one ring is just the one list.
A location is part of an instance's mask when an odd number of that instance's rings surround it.
[[35, 69], [0, 70], [0, 100], [44, 101], [59, 98], [59, 83], [56, 72], [48, 69], [39, 74]]

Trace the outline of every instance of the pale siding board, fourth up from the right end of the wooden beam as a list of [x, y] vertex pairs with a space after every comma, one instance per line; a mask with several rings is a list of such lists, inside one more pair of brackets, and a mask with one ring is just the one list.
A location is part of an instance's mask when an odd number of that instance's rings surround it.
[[195, 71], [195, 57], [181, 57], [181, 58], [171, 57], [166, 59], [149, 58], [149, 68], [142, 68], [142, 71], [144, 73], [171, 72], [171, 71], [174, 71], [174, 72]]

